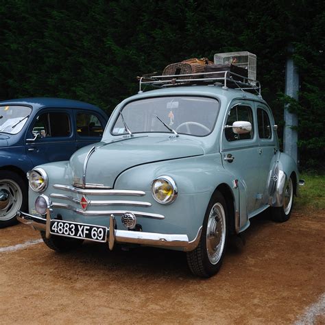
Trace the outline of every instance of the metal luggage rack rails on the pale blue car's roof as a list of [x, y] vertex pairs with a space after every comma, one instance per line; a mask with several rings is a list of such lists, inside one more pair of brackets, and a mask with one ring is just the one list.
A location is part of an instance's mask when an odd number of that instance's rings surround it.
[[[221, 75], [221, 77], [206, 77], [206, 75], [216, 74]], [[202, 77], [202, 75], [204, 75], [204, 77]], [[239, 77], [242, 81], [235, 80], [234, 77]], [[241, 91], [255, 91], [259, 96], [261, 96], [260, 82], [230, 71], [189, 73], [183, 75], [143, 75], [138, 78], [139, 93], [143, 93], [143, 85], [149, 85], [156, 88], [166, 88], [181, 85], [210, 84], [214, 86], [222, 86], [224, 89], [233, 88]]]

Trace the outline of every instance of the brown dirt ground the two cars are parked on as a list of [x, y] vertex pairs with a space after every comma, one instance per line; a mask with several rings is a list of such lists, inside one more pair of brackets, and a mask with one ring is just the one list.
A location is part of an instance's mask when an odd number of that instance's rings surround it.
[[[325, 324], [325, 211], [285, 224], [251, 220], [219, 274], [195, 278], [182, 252], [110, 252], [84, 243], [67, 254], [34, 243], [23, 225], [0, 229], [0, 324]], [[15, 249], [15, 248], [14, 248]], [[315, 311], [316, 310], [316, 311]]]

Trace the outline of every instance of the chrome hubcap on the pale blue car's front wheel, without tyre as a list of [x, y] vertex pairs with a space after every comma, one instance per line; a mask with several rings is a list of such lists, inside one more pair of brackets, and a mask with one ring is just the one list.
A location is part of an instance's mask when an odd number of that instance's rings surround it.
[[206, 251], [210, 263], [217, 264], [224, 252], [226, 241], [226, 215], [224, 207], [216, 203], [210, 210], [206, 229]]

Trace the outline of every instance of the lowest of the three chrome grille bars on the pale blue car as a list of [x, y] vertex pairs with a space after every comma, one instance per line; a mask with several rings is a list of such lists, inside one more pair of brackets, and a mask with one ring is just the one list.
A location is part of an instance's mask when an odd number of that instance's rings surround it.
[[57, 203], [53, 202], [53, 208], [66, 208], [68, 210], [72, 210], [78, 215], [86, 215], [87, 217], [100, 217], [100, 216], [108, 216], [108, 215], [124, 215], [124, 213], [130, 212], [136, 215], [136, 217], [144, 217], [144, 218], [152, 218], [152, 219], [165, 219], [164, 215], [158, 215], [157, 213], [147, 213], [147, 212], [139, 212], [139, 211], [129, 211], [129, 210], [81, 210], [79, 208], [74, 208], [69, 204]]

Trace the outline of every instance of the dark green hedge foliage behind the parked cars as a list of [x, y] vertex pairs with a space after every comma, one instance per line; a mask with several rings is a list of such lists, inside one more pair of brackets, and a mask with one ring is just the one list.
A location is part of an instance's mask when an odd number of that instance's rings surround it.
[[[299, 118], [300, 160], [317, 166], [325, 158], [324, 9], [321, 0], [0, 0], [0, 99], [67, 97], [111, 112], [136, 93], [137, 75], [248, 50], [277, 123], [284, 125], [290, 104]], [[289, 43], [300, 73], [298, 102], [283, 95]]]

